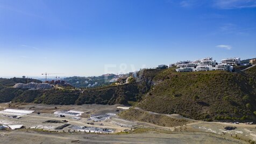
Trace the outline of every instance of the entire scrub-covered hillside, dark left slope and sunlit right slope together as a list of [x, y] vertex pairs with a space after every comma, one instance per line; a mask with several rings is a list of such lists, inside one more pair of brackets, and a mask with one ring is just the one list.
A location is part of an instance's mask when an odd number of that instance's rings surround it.
[[206, 121], [256, 121], [256, 67], [243, 72], [177, 73], [144, 69], [130, 82], [104, 87], [27, 91], [0, 88], [0, 102], [125, 104]]

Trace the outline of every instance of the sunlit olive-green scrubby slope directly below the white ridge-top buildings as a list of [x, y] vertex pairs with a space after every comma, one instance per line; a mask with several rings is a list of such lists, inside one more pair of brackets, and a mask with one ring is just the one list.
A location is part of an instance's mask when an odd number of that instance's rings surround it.
[[255, 67], [245, 73], [176, 73], [167, 69], [153, 81], [154, 88], [138, 104], [144, 110], [208, 121], [255, 121]]

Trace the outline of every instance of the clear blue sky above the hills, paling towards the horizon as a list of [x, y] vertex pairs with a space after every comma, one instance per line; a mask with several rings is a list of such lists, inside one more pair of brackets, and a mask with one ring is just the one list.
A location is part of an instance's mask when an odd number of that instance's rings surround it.
[[256, 57], [255, 0], [0, 0], [0, 77], [92, 76], [207, 56]]

